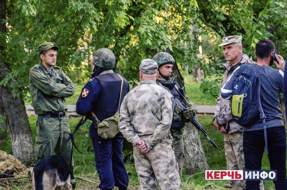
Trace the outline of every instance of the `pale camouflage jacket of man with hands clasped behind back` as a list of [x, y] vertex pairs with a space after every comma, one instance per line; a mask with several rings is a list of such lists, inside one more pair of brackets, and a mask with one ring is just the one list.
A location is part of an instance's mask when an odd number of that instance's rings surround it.
[[160, 142], [172, 144], [172, 94], [167, 92], [153, 80], [142, 80], [125, 96], [119, 128], [129, 142], [143, 139], [149, 149]]

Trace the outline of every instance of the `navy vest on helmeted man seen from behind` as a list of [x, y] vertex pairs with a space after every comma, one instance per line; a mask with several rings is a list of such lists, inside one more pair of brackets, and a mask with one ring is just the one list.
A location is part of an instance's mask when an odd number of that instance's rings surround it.
[[[101, 85], [101, 92], [99, 97], [97, 98], [97, 103], [95, 108], [93, 109], [93, 112], [97, 116], [97, 118], [102, 121], [103, 119], [115, 115], [119, 108], [120, 87], [122, 80], [116, 74], [98, 75], [94, 78], [99, 81]], [[129, 83], [123, 78], [123, 90], [120, 104], [122, 103], [123, 98], [128, 92]]]

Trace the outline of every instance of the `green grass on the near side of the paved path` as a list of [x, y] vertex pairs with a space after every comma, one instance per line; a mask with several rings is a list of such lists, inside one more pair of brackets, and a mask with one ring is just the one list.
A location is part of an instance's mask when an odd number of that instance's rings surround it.
[[[219, 133], [216, 130], [216, 127], [213, 125], [213, 115], [211, 114], [201, 114], [197, 115], [197, 120], [201, 123], [203, 128], [207, 131], [207, 135], [210, 138], [215, 138], [215, 143], [219, 147], [215, 149], [213, 145], [204, 137], [204, 135], [199, 132], [199, 136], [201, 138], [201, 143], [203, 145], [204, 153], [209, 163], [210, 169], [218, 170], [218, 169], [226, 169], [226, 160], [225, 160], [225, 150], [223, 144], [223, 134]], [[35, 143], [36, 137], [36, 117], [29, 117], [30, 129], [32, 132], [33, 144]], [[71, 117], [70, 118], [70, 128], [71, 132], [74, 131], [74, 127], [79, 121], [79, 117]], [[89, 138], [89, 129], [90, 121], [86, 121], [86, 123], [79, 128], [79, 130], [74, 135], [74, 140], [80, 151], [83, 153], [92, 152], [92, 143]], [[0, 149], [11, 153], [12, 146], [9, 145], [9, 137], [6, 138], [5, 142], [0, 143]], [[129, 183], [132, 183], [134, 187], [138, 186], [138, 176], [135, 171], [135, 165], [132, 159], [131, 154], [131, 144], [124, 141], [123, 144], [123, 156], [125, 160], [126, 170], [129, 173]], [[74, 174], [77, 176], [81, 175], [95, 175], [97, 176], [96, 168], [94, 165], [94, 153], [90, 155], [83, 155], [77, 152], [75, 148], [73, 148], [73, 157], [74, 157]], [[268, 156], [264, 153], [262, 160], [262, 169], [269, 169], [269, 161]], [[204, 180], [204, 173], [195, 174], [193, 176], [185, 175], [185, 171], [183, 171], [183, 176], [181, 179], [182, 189], [224, 189], [223, 185], [228, 183], [228, 181], [214, 180], [214, 181], [206, 181]], [[272, 181], [264, 181], [265, 190], [274, 189], [274, 185]], [[1, 188], [0, 188], [1, 189]]]

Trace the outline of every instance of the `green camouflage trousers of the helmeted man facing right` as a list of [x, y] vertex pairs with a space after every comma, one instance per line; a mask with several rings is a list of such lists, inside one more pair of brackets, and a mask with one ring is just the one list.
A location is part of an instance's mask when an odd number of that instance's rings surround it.
[[179, 177], [181, 177], [184, 162], [183, 136], [181, 136], [180, 139], [173, 137], [172, 145], [174, 147], [175, 158], [178, 162]]

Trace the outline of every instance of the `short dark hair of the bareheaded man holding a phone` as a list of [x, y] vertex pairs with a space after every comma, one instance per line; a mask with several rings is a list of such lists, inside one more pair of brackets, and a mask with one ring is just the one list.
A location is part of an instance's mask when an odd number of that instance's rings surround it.
[[256, 44], [256, 56], [263, 59], [269, 57], [270, 53], [274, 51], [275, 45], [270, 39], [261, 39]]

